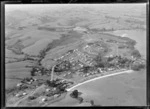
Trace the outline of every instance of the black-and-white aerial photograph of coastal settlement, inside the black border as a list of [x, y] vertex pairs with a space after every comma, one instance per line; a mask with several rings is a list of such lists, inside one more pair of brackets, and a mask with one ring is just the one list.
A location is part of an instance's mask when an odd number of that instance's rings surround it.
[[6, 107], [146, 106], [146, 4], [5, 4]]

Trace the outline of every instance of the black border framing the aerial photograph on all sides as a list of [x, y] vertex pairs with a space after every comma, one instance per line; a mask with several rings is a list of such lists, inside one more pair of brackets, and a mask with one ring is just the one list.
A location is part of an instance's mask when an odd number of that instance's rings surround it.
[[[28, 0], [29, 1], [29, 0]], [[79, 2], [80, 3], [80, 2]], [[120, 2], [111, 2], [113, 4], [120, 4]], [[136, 3], [136, 2], [134, 2]], [[143, 2], [142, 2], [143, 3]], [[49, 3], [49, 2], [1, 2], [1, 104], [2, 104], [2, 108], [31, 108], [31, 107], [6, 107], [6, 103], [5, 103], [5, 5], [6, 4], [53, 4], [53, 3]], [[83, 4], [87, 4], [87, 3], [83, 3]], [[97, 3], [94, 3], [97, 4]], [[98, 4], [103, 4], [103, 3], [98, 3]], [[106, 3], [104, 3], [106, 4]], [[149, 109], [150, 106], [150, 74], [149, 74], [149, 2], [147, 2], [146, 4], [146, 12], [147, 12], [147, 29], [146, 29], [146, 39], [147, 39], [147, 56], [146, 56], [146, 61], [147, 61], [147, 106], [111, 106], [111, 108], [138, 108], [138, 109]], [[36, 107], [32, 107], [32, 108], [36, 108]], [[38, 107], [39, 108], [39, 107]], [[42, 107], [45, 108], [45, 107]], [[46, 107], [49, 108], [49, 107]], [[66, 108], [73, 108], [73, 107], [66, 107]], [[75, 107], [78, 108], [78, 107]], [[84, 108], [84, 107], [82, 107]], [[93, 107], [86, 107], [86, 108], [93, 108]], [[94, 108], [108, 108], [107, 106], [102, 106], [102, 107], [94, 107]]]

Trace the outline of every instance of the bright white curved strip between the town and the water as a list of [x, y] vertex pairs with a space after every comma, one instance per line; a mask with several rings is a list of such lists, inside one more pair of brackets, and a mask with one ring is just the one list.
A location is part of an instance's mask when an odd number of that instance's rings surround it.
[[73, 87], [67, 89], [67, 91], [71, 91], [72, 89], [74, 89], [74, 88], [76, 88], [76, 87], [78, 87], [78, 86], [81, 86], [81, 85], [86, 84], [86, 83], [91, 82], [91, 81], [95, 81], [95, 80], [97, 80], [97, 79], [106, 78], [106, 77], [110, 77], [110, 76], [115, 76], [115, 75], [119, 75], [119, 74], [123, 74], [123, 73], [131, 73], [131, 72], [133, 72], [133, 70], [126, 70], [126, 71], [122, 71], [122, 72], [117, 72], [117, 73], [113, 73], [113, 74], [108, 74], [108, 75], [96, 77], [96, 78], [87, 80], [87, 81], [85, 81], [85, 82], [79, 83], [79, 84], [77, 84], [77, 85], [75, 85], [75, 86], [73, 86]]

